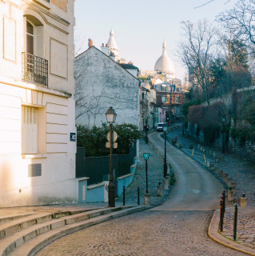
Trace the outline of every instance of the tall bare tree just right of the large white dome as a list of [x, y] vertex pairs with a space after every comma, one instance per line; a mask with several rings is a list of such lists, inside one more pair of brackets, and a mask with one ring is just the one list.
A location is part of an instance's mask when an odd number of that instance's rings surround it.
[[215, 29], [206, 20], [197, 24], [182, 22], [183, 40], [178, 43], [177, 56], [193, 74], [197, 85], [201, 87], [204, 98], [209, 105], [209, 83], [211, 81], [210, 63], [213, 58]]

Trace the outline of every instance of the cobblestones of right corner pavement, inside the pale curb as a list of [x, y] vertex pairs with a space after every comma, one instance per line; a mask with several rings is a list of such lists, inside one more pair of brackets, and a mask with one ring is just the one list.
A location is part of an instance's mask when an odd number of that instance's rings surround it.
[[[237, 242], [255, 249], [255, 208], [238, 207], [237, 212]], [[221, 232], [231, 240], [233, 240], [233, 214], [233, 209], [225, 213], [223, 232]]]

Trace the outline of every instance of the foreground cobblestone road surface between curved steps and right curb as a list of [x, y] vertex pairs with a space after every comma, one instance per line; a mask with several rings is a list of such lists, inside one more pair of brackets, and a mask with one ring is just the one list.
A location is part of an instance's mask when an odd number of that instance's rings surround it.
[[91, 226], [46, 246], [37, 256], [241, 256], [208, 237], [213, 212], [145, 211]]

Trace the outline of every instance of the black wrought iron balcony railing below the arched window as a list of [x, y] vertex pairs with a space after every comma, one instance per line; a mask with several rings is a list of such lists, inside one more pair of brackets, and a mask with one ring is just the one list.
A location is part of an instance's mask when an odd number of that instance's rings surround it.
[[33, 54], [22, 53], [22, 81], [48, 86], [48, 61]]

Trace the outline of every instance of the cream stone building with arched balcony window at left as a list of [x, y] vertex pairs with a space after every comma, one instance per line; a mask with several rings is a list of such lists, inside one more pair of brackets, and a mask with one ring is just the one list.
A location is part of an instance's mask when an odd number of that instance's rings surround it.
[[74, 0], [0, 0], [0, 206], [78, 201]]

